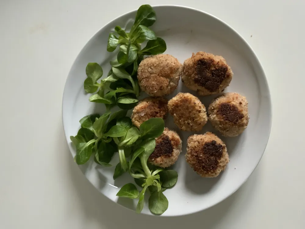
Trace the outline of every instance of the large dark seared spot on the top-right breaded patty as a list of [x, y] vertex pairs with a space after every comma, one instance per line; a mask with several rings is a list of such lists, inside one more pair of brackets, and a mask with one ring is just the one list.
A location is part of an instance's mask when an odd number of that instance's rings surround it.
[[[196, 77], [194, 82], [199, 86], [205, 87], [210, 92], [217, 91], [228, 71], [225, 65], [215, 65], [211, 58], [201, 59], [197, 61], [195, 70]], [[211, 69], [213, 68], [213, 69]]]

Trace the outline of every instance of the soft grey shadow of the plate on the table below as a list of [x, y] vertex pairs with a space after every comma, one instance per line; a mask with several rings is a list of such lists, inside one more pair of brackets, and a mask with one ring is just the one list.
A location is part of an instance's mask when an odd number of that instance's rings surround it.
[[[59, 137], [60, 141], [65, 139], [62, 129], [60, 129]], [[200, 228], [213, 229], [219, 225], [222, 219], [226, 218], [226, 215], [230, 212], [230, 208], [235, 205], [234, 202], [242, 202], [251, 197], [255, 191], [255, 186], [260, 175], [256, 170], [238, 191], [210, 209], [187, 216], [159, 217], [158, 226], [156, 226], [156, 216], [136, 214], [99, 193], [82, 174], [74, 162], [67, 145], [60, 154], [64, 158], [63, 161], [66, 162], [66, 166], [70, 172], [70, 180], [74, 186], [73, 190], [76, 196], [78, 196], [78, 199], [75, 200], [78, 203], [75, 206], [81, 206], [84, 213], [84, 221], [90, 222], [91, 225], [99, 225], [97, 228], [155, 229], [156, 227], [185, 228], [199, 226]]]

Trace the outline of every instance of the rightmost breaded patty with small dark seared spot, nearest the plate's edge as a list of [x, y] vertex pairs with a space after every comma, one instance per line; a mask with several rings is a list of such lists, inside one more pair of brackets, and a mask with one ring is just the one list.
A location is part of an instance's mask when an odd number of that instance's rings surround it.
[[209, 119], [225, 137], [241, 134], [249, 123], [248, 102], [238, 93], [224, 93], [209, 106]]

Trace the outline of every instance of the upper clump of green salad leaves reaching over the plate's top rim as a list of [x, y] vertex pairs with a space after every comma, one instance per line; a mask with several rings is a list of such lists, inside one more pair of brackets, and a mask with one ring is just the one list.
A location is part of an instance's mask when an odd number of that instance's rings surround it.
[[[88, 93], [98, 91], [90, 96], [89, 101], [103, 103], [107, 110], [115, 105], [121, 109], [131, 109], [136, 105], [140, 93], [137, 81], [138, 65], [144, 55], [156, 55], [166, 50], [165, 41], [148, 28], [155, 21], [156, 13], [152, 7], [142, 5], [129, 33], [116, 26], [114, 30], [117, 35], [109, 34], [107, 51], [113, 52], [119, 46], [119, 52], [116, 59], [110, 61], [112, 68], [100, 83], [98, 80], [103, 75], [102, 67], [97, 63], [87, 65], [84, 89]], [[145, 48], [141, 49], [141, 43], [145, 41], [148, 42]]]

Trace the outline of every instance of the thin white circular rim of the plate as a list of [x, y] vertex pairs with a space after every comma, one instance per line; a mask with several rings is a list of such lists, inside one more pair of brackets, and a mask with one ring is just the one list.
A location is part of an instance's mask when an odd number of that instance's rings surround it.
[[[175, 4], [165, 4], [165, 5], [151, 5], [153, 9], [155, 8], [161, 8], [161, 7], [174, 7], [174, 8], [182, 8], [182, 9], [188, 9], [188, 10], [192, 10], [192, 11], [196, 11], [198, 13], [202, 13], [202, 14], [205, 14], [206, 16], [209, 16], [211, 18], [213, 18], [214, 20], [217, 20], [218, 22], [224, 24], [225, 26], [227, 26], [229, 29], [231, 29], [247, 46], [247, 48], [249, 49], [249, 51], [251, 52], [251, 54], [253, 55], [253, 57], [255, 58], [255, 61], [257, 62], [258, 64], [258, 67], [260, 68], [260, 71], [263, 73], [262, 74], [262, 77], [264, 78], [265, 82], [266, 82], [266, 93], [267, 93], [267, 99], [268, 99], [268, 103], [270, 104], [270, 112], [268, 112], [268, 115], [267, 115], [267, 118], [270, 120], [269, 121], [269, 125], [268, 125], [268, 138], [267, 138], [267, 141], [264, 145], [264, 151], [263, 153], [261, 154], [257, 164], [255, 165], [254, 169], [252, 170], [252, 172], [249, 174], [249, 176], [243, 181], [241, 182], [241, 184], [235, 189], [235, 191], [233, 191], [231, 194], [229, 194], [228, 196], [222, 198], [220, 201], [212, 204], [212, 205], [209, 205], [201, 210], [195, 210], [193, 212], [187, 212], [187, 213], [182, 213], [182, 214], [179, 214], [179, 215], [160, 215], [160, 216], [163, 216], [163, 217], [175, 217], [175, 216], [185, 216], [185, 215], [190, 215], [190, 214], [194, 214], [194, 213], [198, 213], [198, 212], [202, 212], [206, 209], [209, 209], [217, 204], [219, 204], [220, 202], [223, 202], [225, 199], [227, 199], [228, 197], [230, 197], [233, 193], [235, 193], [243, 184], [245, 184], [245, 182], [248, 180], [248, 178], [253, 174], [254, 170], [257, 168], [257, 165], [260, 163], [261, 161], [261, 158], [263, 157], [264, 155], [264, 152], [266, 150], [266, 147], [267, 147], [267, 144], [268, 144], [268, 141], [269, 141], [269, 138], [270, 138], [270, 133], [271, 133], [271, 126], [272, 126], [272, 100], [271, 100], [271, 93], [270, 93], [270, 88], [269, 88], [269, 83], [268, 83], [268, 79], [267, 79], [267, 76], [266, 76], [266, 73], [264, 71], [264, 68], [263, 68], [263, 65], [261, 64], [260, 60], [258, 59], [256, 53], [254, 52], [254, 50], [252, 49], [252, 47], [249, 45], [249, 43], [246, 41], [245, 38], [242, 37], [242, 35], [240, 35], [233, 27], [231, 27], [229, 24], [227, 24], [226, 22], [224, 22], [223, 20], [221, 20], [220, 18], [216, 17], [216, 16], [213, 16], [212, 14], [210, 13], [207, 13], [203, 10], [200, 10], [200, 9], [195, 9], [195, 8], [192, 8], [192, 7], [188, 7], [188, 6], [183, 6], [183, 5], [175, 5]], [[126, 12], [124, 14], [121, 14], [120, 16], [117, 16], [116, 18], [114, 18], [113, 20], [110, 20], [108, 23], [104, 24], [102, 27], [99, 28], [99, 30], [97, 30], [88, 40], [87, 42], [84, 44], [84, 46], [81, 48], [81, 50], [79, 51], [79, 53], [77, 54], [77, 56], [75, 57], [71, 67], [70, 67], [70, 70], [68, 72], [68, 75], [67, 75], [67, 78], [66, 78], [66, 82], [65, 82], [65, 85], [64, 85], [64, 90], [63, 90], [63, 97], [62, 97], [62, 124], [63, 124], [63, 131], [64, 131], [64, 134], [65, 134], [65, 137], [66, 137], [66, 143], [68, 145], [68, 148], [69, 148], [69, 151], [70, 151], [70, 154], [72, 155], [72, 158], [73, 158], [73, 154], [71, 152], [71, 149], [70, 149], [70, 146], [69, 146], [69, 142], [68, 142], [68, 138], [69, 136], [66, 135], [66, 131], [65, 131], [65, 124], [64, 124], [64, 121], [63, 121], [63, 105], [64, 105], [64, 97], [65, 97], [65, 92], [66, 92], [66, 88], [67, 88], [67, 81], [68, 81], [68, 78], [71, 77], [71, 72], [72, 72], [72, 67], [74, 66], [74, 64], [76, 63], [76, 61], [78, 60], [78, 57], [80, 56], [81, 53], [83, 53], [84, 49], [86, 48], [88, 42], [93, 38], [95, 37], [104, 27], [108, 26], [109, 24], [113, 23], [115, 20], [119, 19], [120, 17], [123, 17], [123, 16], [126, 16], [127, 14], [130, 14], [130, 13], [136, 13], [138, 9], [134, 9], [134, 10], [131, 10], [129, 12]], [[70, 139], [70, 138], [69, 138]], [[89, 181], [89, 183], [95, 187], [95, 185], [85, 176], [84, 173], [82, 173], [83, 176], [86, 178], [86, 180]], [[104, 182], [104, 181], [102, 181]], [[95, 187], [96, 188], [96, 187]], [[103, 194], [106, 198], [110, 199], [111, 201], [113, 201], [109, 196], [107, 196], [106, 194], [104, 194], [103, 192], [101, 192], [100, 190], [98, 190], [99, 193]], [[121, 205], [120, 203], [118, 202], [115, 202], [113, 201], [114, 203], [120, 205], [120, 206], [123, 206], [125, 209], [128, 209], [128, 210], [131, 210], [131, 211], [134, 211], [133, 209], [130, 209], [128, 208], [127, 206], [124, 206], [124, 205]], [[145, 215], [150, 215], [150, 216], [155, 216], [153, 214], [147, 214], [147, 213], [141, 213], [141, 214], [145, 214]]]

